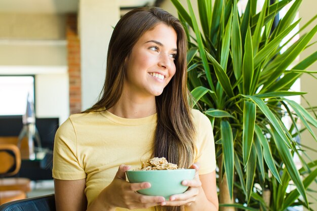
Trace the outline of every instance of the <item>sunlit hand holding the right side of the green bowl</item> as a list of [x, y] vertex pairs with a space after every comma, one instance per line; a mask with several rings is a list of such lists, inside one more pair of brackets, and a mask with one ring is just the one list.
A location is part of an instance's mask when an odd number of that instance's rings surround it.
[[196, 170], [194, 179], [182, 181], [182, 185], [188, 186], [189, 188], [182, 194], [172, 195], [169, 201], [162, 202], [161, 205], [190, 206], [190, 204], [196, 200], [196, 196], [199, 194], [199, 190], [202, 186], [198, 175], [199, 163], [192, 164], [190, 168], [194, 168]]

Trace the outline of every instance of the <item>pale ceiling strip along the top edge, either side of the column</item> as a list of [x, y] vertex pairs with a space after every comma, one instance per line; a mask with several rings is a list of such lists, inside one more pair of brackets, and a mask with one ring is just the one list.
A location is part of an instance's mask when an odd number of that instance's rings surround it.
[[[1, 0], [3, 13], [73, 13], [80, 0]], [[87, 0], [89, 1], [89, 0]], [[111, 0], [104, 0], [111, 1]], [[155, 0], [117, 0], [121, 8], [152, 6]]]

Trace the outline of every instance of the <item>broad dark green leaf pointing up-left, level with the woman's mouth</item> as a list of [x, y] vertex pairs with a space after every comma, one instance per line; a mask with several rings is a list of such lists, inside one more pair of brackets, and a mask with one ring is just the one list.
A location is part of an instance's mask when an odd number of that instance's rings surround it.
[[214, 70], [215, 70], [217, 79], [220, 82], [222, 89], [230, 98], [234, 97], [228, 75], [222, 69], [220, 64], [207, 51], [206, 51], [206, 54], [207, 54], [208, 60], [211, 61], [212, 64], [214, 65]]

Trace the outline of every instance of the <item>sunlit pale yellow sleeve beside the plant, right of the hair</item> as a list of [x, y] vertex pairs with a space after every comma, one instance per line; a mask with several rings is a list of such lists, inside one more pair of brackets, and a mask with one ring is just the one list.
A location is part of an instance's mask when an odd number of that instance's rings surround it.
[[199, 174], [204, 175], [216, 169], [215, 142], [210, 120], [200, 111], [196, 112], [199, 112], [199, 115], [196, 115], [198, 122], [195, 162], [200, 163]]

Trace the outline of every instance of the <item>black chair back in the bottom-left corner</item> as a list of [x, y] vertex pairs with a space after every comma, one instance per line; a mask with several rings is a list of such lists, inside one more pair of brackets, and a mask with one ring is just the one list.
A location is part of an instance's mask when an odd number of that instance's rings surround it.
[[27, 198], [5, 203], [0, 211], [56, 211], [55, 195]]

